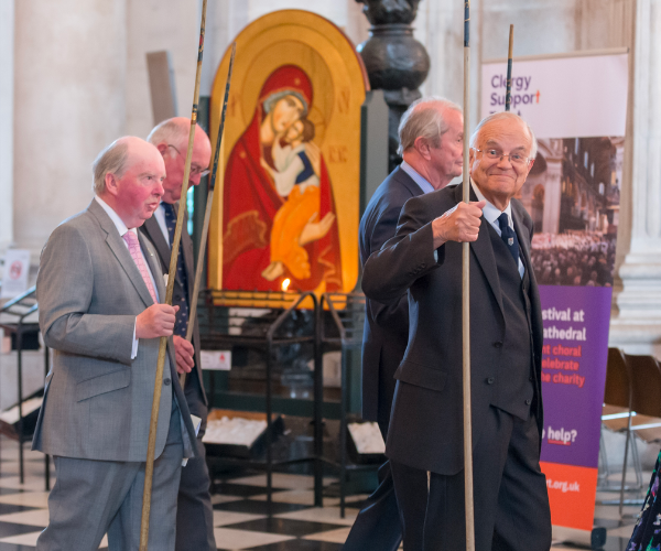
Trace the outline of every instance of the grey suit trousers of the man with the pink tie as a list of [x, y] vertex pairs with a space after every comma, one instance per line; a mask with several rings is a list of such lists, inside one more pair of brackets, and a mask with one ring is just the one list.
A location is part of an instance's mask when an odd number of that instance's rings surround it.
[[[172, 401], [163, 453], [154, 461], [149, 551], [173, 551], [176, 493], [184, 446], [181, 413]], [[54, 457], [57, 479], [48, 496], [50, 520], [37, 551], [96, 551], [108, 532], [110, 551], [140, 547], [143, 462]]]

